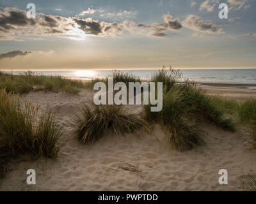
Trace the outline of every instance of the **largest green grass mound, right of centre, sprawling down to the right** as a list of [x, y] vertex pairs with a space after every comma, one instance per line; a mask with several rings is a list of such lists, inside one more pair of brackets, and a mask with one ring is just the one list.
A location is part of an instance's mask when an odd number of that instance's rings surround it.
[[235, 130], [235, 111], [228, 108], [232, 103], [220, 96], [209, 96], [196, 87], [194, 82], [182, 78], [179, 70], [161, 69], [152, 76], [152, 82], [163, 82], [163, 109], [161, 112], [151, 112], [145, 105], [145, 117], [149, 122], [160, 122], [168, 131], [170, 146], [175, 150], [188, 150], [201, 145], [202, 130], [200, 123], [209, 122], [229, 131]]

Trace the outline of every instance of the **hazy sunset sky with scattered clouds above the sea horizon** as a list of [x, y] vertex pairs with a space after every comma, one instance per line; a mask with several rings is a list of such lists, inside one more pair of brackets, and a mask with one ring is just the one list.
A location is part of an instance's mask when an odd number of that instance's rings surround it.
[[255, 11], [256, 0], [0, 0], [0, 69], [256, 68]]

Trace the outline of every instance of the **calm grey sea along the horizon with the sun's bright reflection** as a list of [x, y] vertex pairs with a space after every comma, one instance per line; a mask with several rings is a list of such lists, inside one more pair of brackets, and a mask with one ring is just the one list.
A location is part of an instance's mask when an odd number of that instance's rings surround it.
[[[104, 78], [111, 74], [111, 69], [80, 69], [80, 70], [56, 70], [56, 71], [33, 71], [38, 75], [53, 75], [68, 78], [81, 78], [90, 80], [92, 78]], [[159, 69], [122, 69], [124, 73], [131, 72], [132, 75], [148, 80], [159, 71]], [[195, 82], [228, 82], [228, 83], [256, 83], [256, 69], [180, 69], [182, 80], [189, 79]], [[19, 75], [24, 71], [5, 71]]]

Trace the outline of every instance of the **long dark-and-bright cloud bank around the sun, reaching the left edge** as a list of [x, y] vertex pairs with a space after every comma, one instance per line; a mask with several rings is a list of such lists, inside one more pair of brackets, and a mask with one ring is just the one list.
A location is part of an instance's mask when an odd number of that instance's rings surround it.
[[83, 34], [115, 36], [122, 33], [125, 26], [117, 22], [99, 22], [92, 18], [67, 18], [44, 13], [36, 13], [35, 19], [29, 19], [26, 11], [17, 8], [0, 10], [0, 40], [14, 40], [19, 36], [67, 35], [70, 39]]

